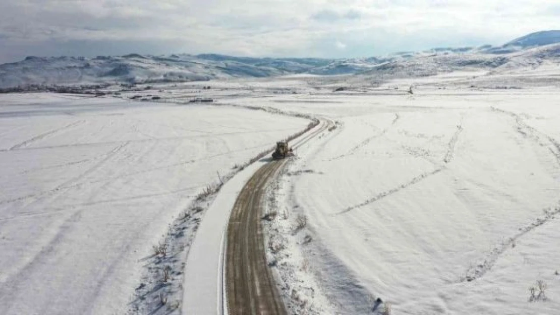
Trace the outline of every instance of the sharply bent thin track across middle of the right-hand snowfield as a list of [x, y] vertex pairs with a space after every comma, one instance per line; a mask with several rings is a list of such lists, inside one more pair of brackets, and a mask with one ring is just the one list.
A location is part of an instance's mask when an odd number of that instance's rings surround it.
[[461, 132], [463, 132], [463, 119], [461, 118], [461, 122], [459, 125], [457, 125], [457, 130], [455, 130], [455, 133], [452, 135], [451, 139], [449, 140], [449, 142], [447, 143], [447, 152], [445, 153], [444, 156], [444, 164], [438, 168], [436, 168], [435, 170], [431, 171], [431, 172], [426, 172], [426, 173], [422, 173], [421, 175], [418, 175], [414, 178], [412, 178], [412, 180], [405, 182], [404, 184], [399, 185], [398, 187], [394, 187], [393, 189], [390, 189], [388, 191], [384, 191], [384, 192], [380, 192], [379, 194], [373, 196], [370, 199], [367, 199], [366, 201], [363, 201], [360, 204], [357, 205], [353, 205], [350, 206], [342, 211], [339, 211], [337, 213], [335, 213], [334, 215], [340, 215], [340, 214], [344, 214], [347, 213], [349, 211], [352, 211], [354, 209], [358, 209], [361, 208], [362, 206], [371, 204], [371, 203], [375, 203], [378, 200], [381, 200], [387, 196], [393, 195], [396, 192], [399, 192], [403, 189], [406, 189], [409, 186], [418, 184], [419, 182], [425, 180], [426, 178], [429, 178], [433, 175], [436, 175], [437, 173], [443, 171], [446, 168], [446, 165], [449, 164], [451, 161], [453, 161], [453, 159], [455, 158], [455, 147], [457, 145], [457, 142], [459, 140], [459, 135], [461, 134]]

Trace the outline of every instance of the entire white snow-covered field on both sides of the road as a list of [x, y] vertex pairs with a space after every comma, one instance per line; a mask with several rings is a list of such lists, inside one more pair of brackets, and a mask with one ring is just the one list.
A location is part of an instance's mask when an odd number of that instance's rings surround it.
[[[267, 257], [293, 313], [558, 314], [560, 68], [543, 69], [122, 94], [163, 104], [0, 96], [0, 313], [129, 309], [152, 245], [216, 171], [309, 122], [281, 110], [337, 122], [270, 186]], [[194, 97], [217, 102], [171, 103]]]

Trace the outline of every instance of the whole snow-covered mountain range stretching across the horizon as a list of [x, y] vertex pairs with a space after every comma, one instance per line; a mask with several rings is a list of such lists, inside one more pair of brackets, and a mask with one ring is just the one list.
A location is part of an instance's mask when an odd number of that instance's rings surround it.
[[249, 58], [218, 54], [120, 57], [27, 57], [0, 65], [0, 88], [43, 85], [185, 82], [295, 73], [432, 76], [459, 69], [500, 72], [560, 62], [560, 31], [542, 31], [502, 46], [435, 48], [352, 59]]

